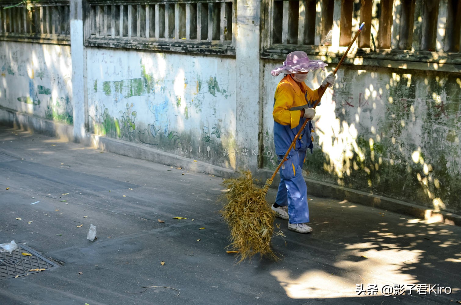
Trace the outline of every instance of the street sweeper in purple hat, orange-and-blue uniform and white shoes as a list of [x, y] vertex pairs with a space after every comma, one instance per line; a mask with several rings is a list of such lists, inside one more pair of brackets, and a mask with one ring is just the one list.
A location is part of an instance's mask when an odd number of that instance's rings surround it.
[[[295, 138], [303, 123], [315, 117], [313, 105], [319, 99], [318, 90], [326, 86], [332, 87], [336, 76], [331, 73], [325, 77], [319, 89], [312, 90], [304, 82], [309, 70], [325, 70], [321, 60], [312, 60], [302, 51], [291, 52], [280, 67], [272, 70], [272, 76], [284, 73], [278, 83], [274, 97], [274, 143], [279, 162]], [[280, 184], [272, 210], [279, 218], [288, 219], [288, 229], [298, 233], [312, 231], [309, 222], [307, 205], [307, 185], [302, 176], [302, 165], [306, 151], [312, 153], [311, 132], [313, 124], [307, 122], [306, 127], [296, 140], [296, 145], [289, 152], [287, 160], [280, 167]]]

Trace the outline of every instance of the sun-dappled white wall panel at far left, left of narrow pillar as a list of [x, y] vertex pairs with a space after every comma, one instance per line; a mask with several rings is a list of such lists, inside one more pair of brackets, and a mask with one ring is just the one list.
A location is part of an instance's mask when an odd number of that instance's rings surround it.
[[73, 123], [69, 46], [0, 42], [0, 63], [3, 106], [54, 122]]

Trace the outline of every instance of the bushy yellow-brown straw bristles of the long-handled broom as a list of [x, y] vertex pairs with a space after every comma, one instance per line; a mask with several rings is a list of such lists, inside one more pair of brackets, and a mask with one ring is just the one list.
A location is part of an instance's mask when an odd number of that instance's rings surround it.
[[[222, 185], [227, 188], [222, 198], [227, 204], [219, 212], [231, 231], [227, 248], [238, 250], [237, 264], [257, 253], [279, 260], [271, 248], [275, 213], [266, 202], [266, 192], [254, 187], [251, 172], [226, 179]], [[275, 235], [284, 236], [280, 230]]]

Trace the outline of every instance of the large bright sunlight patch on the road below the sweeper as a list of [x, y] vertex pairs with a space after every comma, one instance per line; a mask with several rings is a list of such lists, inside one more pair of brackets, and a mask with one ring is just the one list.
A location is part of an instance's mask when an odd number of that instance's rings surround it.
[[362, 297], [363, 293], [357, 293], [360, 284], [364, 287], [377, 285], [378, 295], [382, 295], [380, 290], [385, 285], [418, 283], [415, 276], [402, 273], [402, 269], [408, 272], [411, 264], [419, 262], [422, 251], [358, 250], [374, 246], [369, 243], [349, 245], [348, 248], [355, 251], [348, 252], [345, 259], [335, 264], [338, 270], [333, 274], [321, 270], [306, 271], [299, 277], [290, 276], [287, 270], [274, 270], [271, 274], [292, 299]]

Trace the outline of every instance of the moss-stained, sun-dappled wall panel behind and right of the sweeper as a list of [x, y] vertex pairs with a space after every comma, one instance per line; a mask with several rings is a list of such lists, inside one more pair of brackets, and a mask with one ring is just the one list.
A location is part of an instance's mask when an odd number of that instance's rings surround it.
[[[407, 73], [338, 72], [340, 81], [317, 108], [315, 148], [306, 160], [308, 177], [430, 208], [459, 210], [460, 77]], [[322, 77], [313, 75], [311, 82], [318, 86]], [[361, 86], [351, 85], [357, 83]], [[265, 94], [273, 96], [273, 91]], [[265, 113], [264, 142], [271, 147], [272, 109]], [[266, 159], [264, 165], [274, 169], [275, 164]]]

